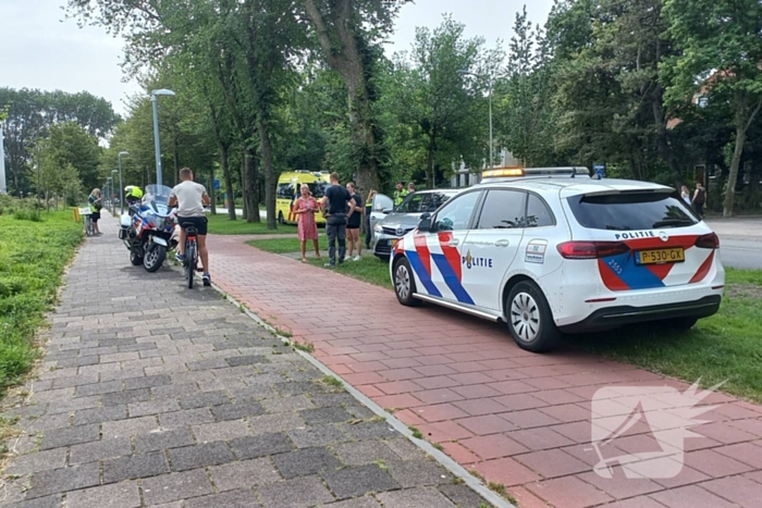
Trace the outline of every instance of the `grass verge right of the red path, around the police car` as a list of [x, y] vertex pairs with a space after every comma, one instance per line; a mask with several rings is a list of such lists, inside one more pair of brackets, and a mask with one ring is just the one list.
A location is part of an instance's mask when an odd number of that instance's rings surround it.
[[[325, 249], [325, 239], [321, 248]], [[298, 250], [296, 239], [253, 240], [276, 253]], [[323, 261], [312, 260], [315, 265]], [[372, 256], [336, 268], [360, 281], [392, 288], [389, 265]], [[762, 271], [727, 269], [720, 312], [700, 320], [688, 332], [663, 324], [628, 326], [609, 333], [570, 335], [566, 343], [586, 351], [709, 387], [726, 381], [722, 391], [762, 402]]]

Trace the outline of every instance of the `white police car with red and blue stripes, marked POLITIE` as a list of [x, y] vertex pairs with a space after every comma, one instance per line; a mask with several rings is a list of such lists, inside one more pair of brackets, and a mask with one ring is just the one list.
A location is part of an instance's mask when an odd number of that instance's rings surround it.
[[720, 240], [671, 187], [594, 179], [585, 168], [496, 169], [394, 247], [405, 306], [431, 302], [507, 323], [530, 351], [564, 333], [717, 312]]

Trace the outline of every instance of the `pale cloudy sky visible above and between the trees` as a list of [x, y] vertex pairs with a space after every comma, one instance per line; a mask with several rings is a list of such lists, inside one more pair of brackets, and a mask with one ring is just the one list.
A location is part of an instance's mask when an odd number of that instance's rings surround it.
[[[544, 24], [553, 0], [416, 0], [405, 4], [386, 46], [408, 50], [417, 26], [434, 28], [444, 13], [466, 25], [466, 36], [482, 36], [488, 47], [512, 35], [516, 12], [527, 3], [529, 18]], [[66, 20], [65, 0], [0, 0], [0, 87], [87, 90], [124, 114], [125, 98], [140, 91], [124, 83], [120, 66], [122, 39], [101, 27], [79, 28]]]

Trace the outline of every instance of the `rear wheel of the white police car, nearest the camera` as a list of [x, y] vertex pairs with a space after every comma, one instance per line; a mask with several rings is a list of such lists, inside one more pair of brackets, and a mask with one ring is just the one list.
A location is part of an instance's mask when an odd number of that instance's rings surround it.
[[561, 340], [548, 299], [532, 282], [521, 281], [511, 288], [505, 319], [514, 340], [527, 351], [549, 351]]

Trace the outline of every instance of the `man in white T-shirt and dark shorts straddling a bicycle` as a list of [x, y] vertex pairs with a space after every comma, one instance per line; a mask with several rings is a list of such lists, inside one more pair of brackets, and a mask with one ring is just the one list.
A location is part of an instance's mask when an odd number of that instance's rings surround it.
[[180, 224], [180, 243], [177, 261], [185, 261], [185, 227], [193, 226], [198, 232], [198, 256], [204, 265], [204, 285], [211, 285], [209, 275], [209, 251], [207, 250], [207, 215], [204, 207], [211, 202], [207, 189], [193, 181], [189, 168], [180, 170], [181, 183], [175, 185], [170, 195], [170, 208], [177, 206], [177, 224]]

